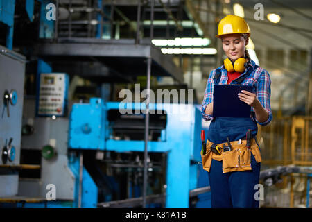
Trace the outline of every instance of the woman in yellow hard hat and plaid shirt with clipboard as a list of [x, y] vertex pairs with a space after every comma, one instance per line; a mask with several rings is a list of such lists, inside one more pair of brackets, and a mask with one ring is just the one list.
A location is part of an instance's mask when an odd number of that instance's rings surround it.
[[[257, 208], [261, 164], [257, 123], [266, 126], [272, 120], [270, 76], [250, 59], [245, 49], [250, 28], [242, 17], [227, 15], [221, 19], [216, 37], [222, 41], [227, 59], [209, 74], [200, 110], [205, 121], [211, 120], [206, 150], [201, 153], [202, 167], [209, 175], [211, 207]], [[214, 84], [252, 86], [252, 92], [242, 90], [237, 94], [250, 105], [250, 117], [214, 117]], [[252, 139], [246, 139], [246, 135]]]

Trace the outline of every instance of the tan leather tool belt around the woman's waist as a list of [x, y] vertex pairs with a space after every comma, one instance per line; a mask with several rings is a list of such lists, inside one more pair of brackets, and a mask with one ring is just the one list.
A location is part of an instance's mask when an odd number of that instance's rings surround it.
[[[247, 141], [241, 140], [241, 144], [238, 144], [239, 141], [230, 142], [232, 146], [232, 151], [224, 152], [223, 149], [220, 151], [220, 155], [211, 151], [211, 145], [214, 144], [207, 140], [206, 144], [206, 153], [202, 156], [202, 168], [205, 171], [210, 171], [211, 160], [222, 161], [223, 173], [234, 172], [234, 171], [248, 171], [251, 170], [251, 153], [254, 155], [256, 162], [261, 162], [261, 153], [259, 146], [255, 142], [255, 139], [252, 138], [250, 141], [250, 148], [246, 146]], [[227, 146], [227, 142], [223, 143]], [[223, 144], [216, 144], [223, 147]]]

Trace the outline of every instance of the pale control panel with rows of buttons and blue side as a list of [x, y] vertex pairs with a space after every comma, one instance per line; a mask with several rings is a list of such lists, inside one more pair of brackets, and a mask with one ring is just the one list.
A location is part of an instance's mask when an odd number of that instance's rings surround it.
[[67, 114], [67, 74], [40, 74], [37, 93], [37, 116], [64, 116]]

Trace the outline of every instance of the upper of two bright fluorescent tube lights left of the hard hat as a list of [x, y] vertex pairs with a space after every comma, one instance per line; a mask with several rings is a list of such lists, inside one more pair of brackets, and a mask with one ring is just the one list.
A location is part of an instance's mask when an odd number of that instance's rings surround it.
[[201, 37], [176, 37], [174, 40], [152, 40], [155, 46], [208, 46], [210, 40]]

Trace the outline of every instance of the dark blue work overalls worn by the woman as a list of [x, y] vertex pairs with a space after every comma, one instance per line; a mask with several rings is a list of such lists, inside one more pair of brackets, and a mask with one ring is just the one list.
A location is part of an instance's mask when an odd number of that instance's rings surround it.
[[[217, 83], [218, 84], [218, 83]], [[207, 139], [215, 144], [245, 139], [247, 130], [252, 130], [252, 137], [258, 132], [254, 117], [232, 118], [215, 117], [209, 126]], [[251, 154], [252, 170], [223, 173], [222, 161], [212, 160], [208, 173], [211, 188], [211, 207], [213, 208], [258, 208], [259, 200], [254, 194], [254, 186], [259, 184], [260, 162]], [[256, 195], [258, 196], [258, 195]]]

